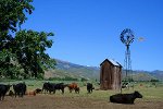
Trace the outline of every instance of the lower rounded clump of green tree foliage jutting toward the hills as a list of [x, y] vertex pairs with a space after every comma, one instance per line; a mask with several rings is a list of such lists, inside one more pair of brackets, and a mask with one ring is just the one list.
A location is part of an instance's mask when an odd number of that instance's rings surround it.
[[52, 46], [52, 40], [48, 40], [49, 36], [53, 34], [25, 29], [16, 33], [12, 52], [16, 55], [25, 74], [37, 77], [38, 72], [43, 74], [45, 69], [54, 69], [55, 61], [45, 53]]

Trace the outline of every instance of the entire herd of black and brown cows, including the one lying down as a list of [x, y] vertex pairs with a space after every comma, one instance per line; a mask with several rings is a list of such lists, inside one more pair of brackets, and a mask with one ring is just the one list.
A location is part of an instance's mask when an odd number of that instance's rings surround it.
[[[10, 87], [13, 87], [13, 92], [10, 90]], [[64, 84], [64, 83], [49, 83], [46, 82], [42, 85], [42, 88], [36, 88], [34, 92], [27, 92], [27, 85], [25, 83], [18, 83], [14, 85], [4, 85], [0, 84], [0, 100], [4, 99], [4, 96], [9, 92], [9, 96], [14, 97], [23, 97], [24, 95], [36, 95], [36, 94], [55, 94], [57, 90], [61, 90], [62, 94], [64, 94], [64, 88], [67, 87], [70, 93], [73, 90], [76, 94], [79, 94], [79, 86], [76, 83], [72, 84]], [[93, 85], [91, 83], [87, 83], [87, 92], [88, 94], [92, 93], [92, 89], [95, 89]], [[142, 95], [139, 92], [135, 92], [131, 94], [116, 94], [110, 96], [111, 102], [116, 104], [134, 104], [136, 98], [142, 98]]]

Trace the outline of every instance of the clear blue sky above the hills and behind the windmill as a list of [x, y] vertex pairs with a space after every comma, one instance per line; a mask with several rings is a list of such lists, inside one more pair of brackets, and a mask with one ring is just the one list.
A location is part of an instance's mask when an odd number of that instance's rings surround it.
[[[22, 28], [52, 32], [51, 58], [100, 66], [114, 59], [124, 66], [120, 35], [134, 32], [133, 70], [163, 70], [163, 0], [34, 0], [35, 11]], [[139, 41], [139, 37], [143, 37]]]

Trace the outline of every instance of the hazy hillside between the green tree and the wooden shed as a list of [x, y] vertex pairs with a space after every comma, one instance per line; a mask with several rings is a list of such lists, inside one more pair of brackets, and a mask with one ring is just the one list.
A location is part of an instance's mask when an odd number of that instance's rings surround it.
[[55, 59], [57, 69], [46, 72], [46, 77], [76, 77], [76, 78], [99, 78], [100, 69], [97, 66], [79, 65]]

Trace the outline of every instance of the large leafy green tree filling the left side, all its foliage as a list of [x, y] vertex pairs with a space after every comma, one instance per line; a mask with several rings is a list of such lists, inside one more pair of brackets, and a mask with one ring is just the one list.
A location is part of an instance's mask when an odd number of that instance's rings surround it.
[[27, 20], [26, 14], [34, 11], [32, 2], [0, 0], [0, 75], [38, 77], [43, 75], [45, 69], [55, 65], [46, 53], [46, 49], [52, 46], [52, 40], [48, 40], [52, 33], [17, 32]]

